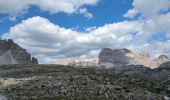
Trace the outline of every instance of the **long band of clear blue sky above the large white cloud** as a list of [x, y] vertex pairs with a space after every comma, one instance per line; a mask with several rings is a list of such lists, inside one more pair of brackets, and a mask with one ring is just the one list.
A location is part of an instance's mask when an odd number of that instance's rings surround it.
[[122, 15], [132, 8], [132, 0], [103, 0], [96, 6], [86, 6], [88, 11], [93, 14], [93, 18], [88, 20], [82, 14], [67, 14], [59, 12], [57, 14], [49, 14], [48, 12], [41, 11], [38, 7], [32, 6], [28, 13], [19, 16], [15, 21], [9, 20], [7, 14], [0, 14], [3, 20], [0, 22], [0, 33], [6, 33], [11, 26], [20, 23], [22, 20], [33, 17], [41, 16], [47, 18], [51, 22], [58, 24], [65, 28], [75, 28], [78, 31], [84, 31], [88, 27], [103, 26], [106, 23], [119, 22], [127, 20]]

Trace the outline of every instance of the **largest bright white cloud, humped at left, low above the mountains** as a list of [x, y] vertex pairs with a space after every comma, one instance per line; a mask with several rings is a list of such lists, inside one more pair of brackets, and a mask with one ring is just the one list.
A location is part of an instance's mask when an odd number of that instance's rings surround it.
[[12, 27], [3, 38], [12, 38], [26, 48], [41, 63], [44, 59], [53, 62], [64, 57], [80, 57], [92, 55], [104, 47], [124, 47], [132, 40], [137, 23], [120, 22], [106, 24], [88, 33], [66, 29], [51, 23], [49, 20], [36, 16], [22, 21]]

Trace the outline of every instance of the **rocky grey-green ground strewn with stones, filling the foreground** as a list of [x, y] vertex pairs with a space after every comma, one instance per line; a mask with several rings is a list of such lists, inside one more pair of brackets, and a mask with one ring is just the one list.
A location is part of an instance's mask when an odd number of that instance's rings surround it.
[[[169, 100], [170, 69], [166, 66], [169, 64], [156, 70], [136, 66], [135, 73], [134, 68], [5, 65], [0, 66], [0, 97], [2, 100]], [[166, 76], [160, 76], [165, 72]]]

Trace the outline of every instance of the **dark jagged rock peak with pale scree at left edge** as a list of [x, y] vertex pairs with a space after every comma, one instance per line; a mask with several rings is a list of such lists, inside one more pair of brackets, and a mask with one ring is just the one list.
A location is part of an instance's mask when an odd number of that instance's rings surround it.
[[8, 39], [0, 40], [0, 64], [38, 64], [38, 60]]

